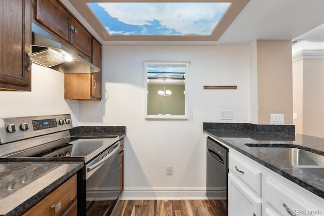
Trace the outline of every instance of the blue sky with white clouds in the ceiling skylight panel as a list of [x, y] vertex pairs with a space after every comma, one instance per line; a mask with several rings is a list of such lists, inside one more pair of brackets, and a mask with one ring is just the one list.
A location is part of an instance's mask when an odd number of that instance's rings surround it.
[[210, 35], [230, 3], [88, 3], [112, 35]]

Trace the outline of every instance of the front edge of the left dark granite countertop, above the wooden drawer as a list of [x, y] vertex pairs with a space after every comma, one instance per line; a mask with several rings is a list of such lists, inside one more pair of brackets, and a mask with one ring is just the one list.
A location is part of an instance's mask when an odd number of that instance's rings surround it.
[[[17, 162], [19, 163], [19, 162]], [[42, 190], [39, 190], [37, 193], [26, 199], [24, 202], [18, 204], [16, 207], [14, 207], [11, 211], [0, 214], [5, 216], [12, 216], [17, 215], [21, 213], [26, 208], [29, 208], [32, 206], [35, 202], [37, 202], [40, 198], [46, 196], [49, 192], [51, 192], [53, 189], [55, 189], [57, 186], [62, 184], [64, 181], [66, 181], [68, 178], [70, 178], [73, 174], [75, 174], [79, 169], [81, 169], [84, 166], [84, 162], [80, 161], [73, 161], [73, 162], [61, 162], [61, 165], [63, 164], [75, 164], [74, 168], [70, 168], [68, 171], [65, 172], [64, 175], [59, 177], [57, 180], [53, 181], [51, 184], [43, 188]]]

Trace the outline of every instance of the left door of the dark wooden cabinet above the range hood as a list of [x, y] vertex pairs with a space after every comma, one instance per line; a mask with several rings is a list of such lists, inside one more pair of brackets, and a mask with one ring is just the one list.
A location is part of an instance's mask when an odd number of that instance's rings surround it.
[[71, 15], [56, 0], [36, 0], [35, 20], [51, 30], [54, 35], [69, 41], [71, 30]]

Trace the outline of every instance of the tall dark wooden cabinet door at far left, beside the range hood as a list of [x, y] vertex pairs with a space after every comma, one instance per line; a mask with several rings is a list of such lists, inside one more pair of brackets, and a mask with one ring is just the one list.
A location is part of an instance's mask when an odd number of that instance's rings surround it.
[[31, 0], [1, 0], [0, 20], [0, 90], [31, 91]]

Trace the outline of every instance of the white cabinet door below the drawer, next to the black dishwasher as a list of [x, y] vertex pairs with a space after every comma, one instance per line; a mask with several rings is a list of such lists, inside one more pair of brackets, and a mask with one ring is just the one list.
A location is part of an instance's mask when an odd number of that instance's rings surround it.
[[261, 216], [261, 200], [237, 180], [228, 174], [228, 215]]

